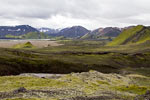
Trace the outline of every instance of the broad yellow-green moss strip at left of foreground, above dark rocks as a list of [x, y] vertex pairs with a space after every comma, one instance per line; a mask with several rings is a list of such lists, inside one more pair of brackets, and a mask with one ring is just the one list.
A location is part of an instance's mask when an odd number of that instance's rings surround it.
[[0, 77], [0, 91], [11, 91], [20, 87], [27, 89], [40, 88], [62, 88], [67, 83], [53, 79], [42, 79], [36, 77]]

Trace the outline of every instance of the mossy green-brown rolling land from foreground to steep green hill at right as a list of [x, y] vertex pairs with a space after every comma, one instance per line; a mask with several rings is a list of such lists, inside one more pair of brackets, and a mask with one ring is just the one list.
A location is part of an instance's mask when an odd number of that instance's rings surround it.
[[112, 42], [59, 40], [61, 45], [44, 48], [31, 42], [0, 48], [0, 99], [149, 99], [147, 40], [149, 27], [138, 25], [125, 29]]

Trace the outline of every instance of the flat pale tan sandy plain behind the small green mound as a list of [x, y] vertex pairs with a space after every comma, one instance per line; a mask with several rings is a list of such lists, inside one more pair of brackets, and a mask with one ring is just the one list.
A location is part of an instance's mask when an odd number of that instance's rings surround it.
[[57, 43], [56, 41], [50, 41], [50, 40], [0, 40], [0, 47], [11, 48], [14, 45], [23, 44], [26, 42], [31, 42], [34, 46], [38, 48], [62, 45], [62, 44]]

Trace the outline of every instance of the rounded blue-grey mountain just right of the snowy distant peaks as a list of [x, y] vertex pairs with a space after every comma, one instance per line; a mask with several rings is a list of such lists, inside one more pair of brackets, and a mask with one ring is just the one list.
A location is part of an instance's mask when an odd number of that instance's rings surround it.
[[64, 28], [60, 30], [60, 32], [55, 34], [49, 34], [50, 36], [58, 37], [58, 36], [64, 36], [67, 38], [78, 38], [86, 33], [89, 33], [90, 31], [82, 26], [73, 26], [69, 28]]

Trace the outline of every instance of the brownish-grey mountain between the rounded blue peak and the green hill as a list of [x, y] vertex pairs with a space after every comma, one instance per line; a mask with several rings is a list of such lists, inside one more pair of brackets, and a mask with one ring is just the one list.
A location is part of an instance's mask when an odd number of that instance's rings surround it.
[[98, 28], [87, 33], [81, 39], [99, 39], [101, 37], [117, 37], [121, 33], [121, 29], [117, 27]]

